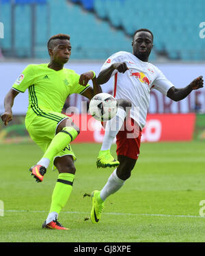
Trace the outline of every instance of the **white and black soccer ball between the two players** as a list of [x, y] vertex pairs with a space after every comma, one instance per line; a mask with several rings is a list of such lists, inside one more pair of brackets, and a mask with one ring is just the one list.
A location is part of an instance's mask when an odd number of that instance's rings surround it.
[[108, 93], [98, 93], [90, 101], [90, 114], [98, 121], [113, 118], [118, 110], [117, 100]]

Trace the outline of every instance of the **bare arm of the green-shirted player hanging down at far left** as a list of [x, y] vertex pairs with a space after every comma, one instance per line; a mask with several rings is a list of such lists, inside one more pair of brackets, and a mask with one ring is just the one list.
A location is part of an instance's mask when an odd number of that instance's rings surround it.
[[14, 105], [14, 99], [18, 95], [18, 93], [19, 92], [17, 92], [16, 90], [10, 89], [8, 94], [5, 95], [5, 111], [1, 115], [1, 119], [3, 120], [4, 125], [8, 125], [8, 123], [12, 120], [12, 106]]

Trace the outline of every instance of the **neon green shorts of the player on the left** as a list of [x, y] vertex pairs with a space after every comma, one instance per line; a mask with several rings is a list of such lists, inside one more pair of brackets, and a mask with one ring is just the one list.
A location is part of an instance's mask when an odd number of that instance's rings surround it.
[[[29, 136], [31, 137], [33, 142], [36, 142], [36, 144], [40, 146], [44, 153], [46, 152], [46, 149], [48, 149], [51, 140], [53, 140], [53, 137], [56, 134], [57, 126], [59, 125], [59, 123], [61, 123], [62, 120], [66, 118], [70, 117], [58, 112], [44, 112], [42, 116], [35, 116], [35, 118], [33, 118], [32, 122], [27, 127]], [[53, 161], [51, 161], [52, 169], [52, 164], [55, 158], [62, 157], [64, 155], [72, 155], [74, 161], [77, 159], [71, 149], [70, 144], [68, 144], [65, 149], [63, 149], [57, 155], [55, 155], [55, 157], [53, 157]]]

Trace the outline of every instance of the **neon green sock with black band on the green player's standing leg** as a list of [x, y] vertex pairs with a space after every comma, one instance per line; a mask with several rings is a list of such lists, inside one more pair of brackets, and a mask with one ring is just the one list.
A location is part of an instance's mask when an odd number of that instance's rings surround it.
[[66, 205], [69, 196], [72, 192], [72, 183], [74, 175], [68, 172], [63, 172], [58, 175], [57, 183], [53, 190], [50, 212], [59, 214], [61, 209]]

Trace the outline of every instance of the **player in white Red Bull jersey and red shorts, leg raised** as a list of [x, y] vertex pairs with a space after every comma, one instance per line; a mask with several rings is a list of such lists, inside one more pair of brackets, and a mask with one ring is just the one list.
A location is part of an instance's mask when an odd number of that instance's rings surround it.
[[[92, 192], [91, 220], [98, 223], [108, 196], [117, 192], [131, 177], [141, 139], [141, 129], [146, 125], [150, 91], [159, 90], [174, 101], [187, 97], [192, 90], [203, 87], [203, 77], [197, 77], [184, 88], [175, 88], [165, 75], [148, 62], [153, 47], [153, 34], [148, 29], [138, 29], [133, 35], [133, 53], [120, 51], [109, 57], [98, 75], [98, 84], [105, 84], [114, 76], [113, 96], [118, 99], [118, 112], [105, 127], [105, 137], [97, 166], [115, 168], [102, 190]], [[130, 107], [130, 112], [126, 108]], [[128, 113], [128, 114], [126, 114]], [[118, 161], [110, 154], [116, 136]]]

